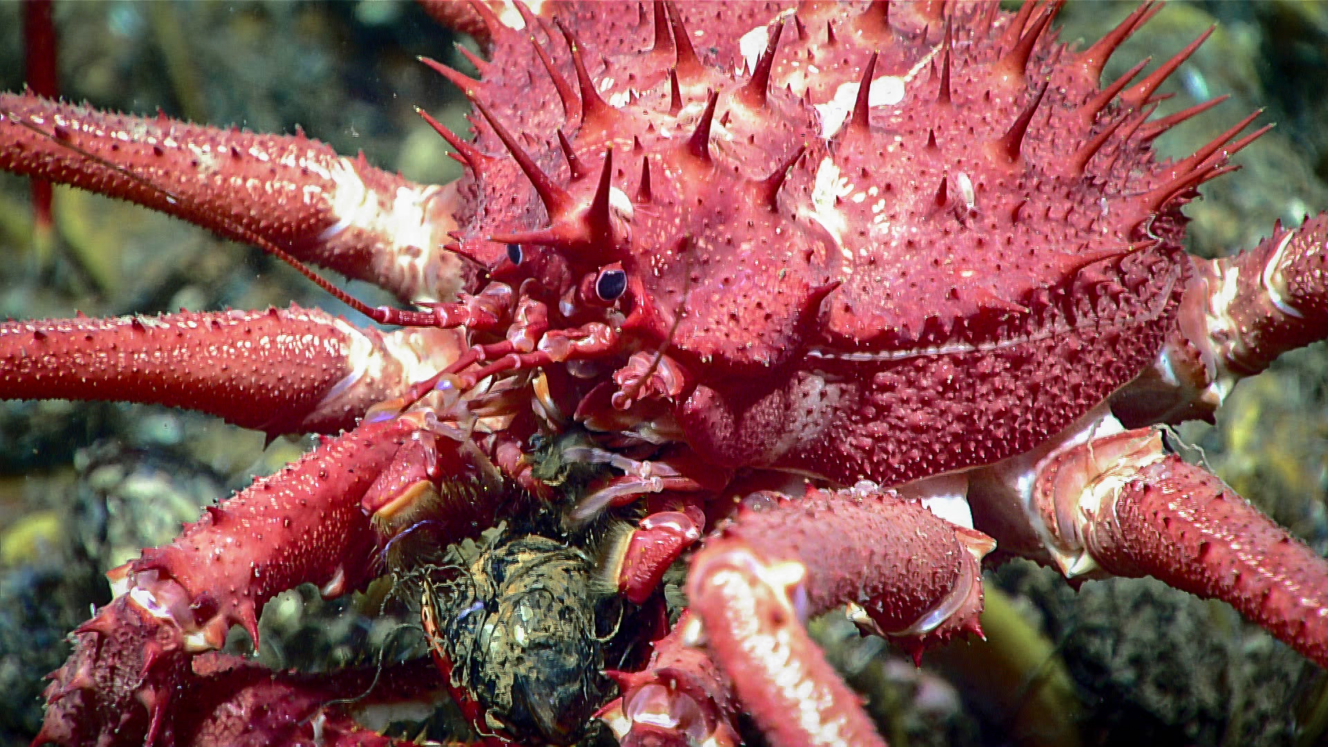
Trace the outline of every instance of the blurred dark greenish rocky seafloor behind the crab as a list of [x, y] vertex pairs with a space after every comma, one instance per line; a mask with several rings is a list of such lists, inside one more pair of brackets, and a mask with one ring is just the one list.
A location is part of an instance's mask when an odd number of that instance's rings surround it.
[[[1070, 3], [1062, 40], [1097, 39], [1131, 4]], [[21, 85], [19, 4], [0, 1], [0, 86]], [[454, 178], [421, 105], [463, 129], [450, 85], [416, 54], [458, 64], [452, 37], [408, 3], [57, 3], [65, 94], [97, 106], [256, 130], [296, 125], [343, 153], [421, 181]], [[1272, 221], [1328, 207], [1328, 4], [1174, 3], [1120, 52], [1109, 77], [1220, 25], [1169, 84], [1163, 113], [1232, 101], [1159, 140], [1187, 154], [1240, 114], [1279, 126], [1186, 213], [1191, 249], [1252, 246]], [[463, 62], [462, 62], [463, 64]], [[315, 304], [344, 312], [258, 251], [124, 203], [61, 190], [58, 241], [32, 249], [27, 185], [0, 178], [0, 314], [158, 312]], [[352, 283], [361, 298], [371, 288]], [[1242, 383], [1216, 427], [1182, 436], [1242, 494], [1328, 550], [1328, 351], [1279, 360]], [[41, 675], [62, 637], [106, 601], [98, 573], [173, 536], [198, 506], [308, 447], [173, 409], [8, 403], [0, 408], [0, 743], [40, 722]], [[1028, 564], [988, 574], [987, 643], [928, 655], [922, 670], [841, 621], [818, 623], [891, 744], [1308, 746], [1328, 734], [1324, 673], [1226, 606], [1149, 580], [1072, 590]], [[307, 605], [301, 601], [308, 602]], [[333, 667], [400, 655], [401, 622], [351, 599], [283, 595], [264, 614], [264, 661]], [[405, 629], [409, 638], [409, 629]], [[430, 735], [441, 734], [434, 726]]]

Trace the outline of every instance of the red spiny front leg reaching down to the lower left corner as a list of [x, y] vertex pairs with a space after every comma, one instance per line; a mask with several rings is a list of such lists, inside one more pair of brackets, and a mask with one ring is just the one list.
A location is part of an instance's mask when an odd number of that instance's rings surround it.
[[52, 675], [42, 734], [88, 744], [130, 730], [169, 744], [163, 719], [195, 654], [220, 647], [232, 625], [256, 646], [258, 611], [279, 591], [311, 582], [335, 597], [373, 578], [378, 538], [360, 500], [420, 427], [397, 417], [331, 439], [108, 573], [117, 595]]

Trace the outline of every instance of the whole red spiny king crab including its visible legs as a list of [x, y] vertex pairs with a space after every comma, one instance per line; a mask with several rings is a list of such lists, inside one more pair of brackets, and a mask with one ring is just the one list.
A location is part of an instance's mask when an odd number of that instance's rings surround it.
[[[689, 610], [614, 673], [624, 744], [734, 744], [740, 711], [772, 744], [882, 744], [802, 622], [847, 606], [920, 655], [979, 631], [996, 546], [1223, 599], [1328, 666], [1328, 564], [1157, 428], [1328, 331], [1328, 217], [1182, 250], [1181, 207], [1264, 132], [1154, 158], [1211, 106], [1150, 118], [1203, 37], [1104, 82], [1157, 4], [1086, 49], [1054, 41], [1054, 1], [426, 5], [489, 57], [481, 80], [425, 60], [478, 110], [474, 142], [429, 120], [467, 169], [445, 187], [0, 98], [5, 169], [418, 306], [364, 308], [390, 334], [293, 307], [0, 328], [3, 396], [348, 429], [110, 573], [39, 742], [382, 742], [327, 704], [357, 682], [201, 654], [292, 585], [361, 586], [421, 521], [459, 538], [527, 494], [574, 522], [645, 506], [600, 558], [631, 601], [692, 553]], [[606, 476], [564, 496], [529, 444], [574, 431], [563, 459]]]

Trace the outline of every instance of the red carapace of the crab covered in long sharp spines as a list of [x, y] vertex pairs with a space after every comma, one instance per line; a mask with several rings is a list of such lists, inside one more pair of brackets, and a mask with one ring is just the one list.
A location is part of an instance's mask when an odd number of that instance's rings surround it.
[[[896, 485], [1025, 452], [1151, 364], [1179, 206], [1248, 138], [1151, 162], [1165, 74], [1098, 89], [1149, 7], [1077, 54], [1048, 5], [714, 8], [550, 4], [568, 35], [530, 17], [482, 80], [444, 69], [483, 114], [463, 249], [620, 263], [614, 350], [683, 372], [615, 403], [657, 396], [726, 467]], [[562, 108], [514, 108], [527, 88]]]

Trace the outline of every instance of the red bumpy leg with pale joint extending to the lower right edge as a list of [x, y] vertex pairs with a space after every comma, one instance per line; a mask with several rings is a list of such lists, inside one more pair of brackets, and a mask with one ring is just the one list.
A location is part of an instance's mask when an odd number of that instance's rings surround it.
[[1153, 576], [1328, 667], [1328, 561], [1141, 428], [1057, 452], [1032, 508], [1066, 577]]

